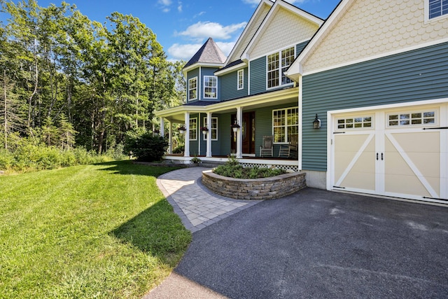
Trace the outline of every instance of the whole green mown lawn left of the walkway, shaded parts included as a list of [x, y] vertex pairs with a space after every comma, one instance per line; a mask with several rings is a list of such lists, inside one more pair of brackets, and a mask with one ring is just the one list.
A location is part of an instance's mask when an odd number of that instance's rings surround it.
[[141, 298], [191, 234], [130, 161], [0, 176], [1, 298]]

